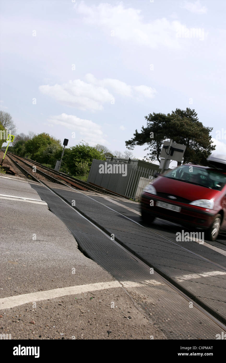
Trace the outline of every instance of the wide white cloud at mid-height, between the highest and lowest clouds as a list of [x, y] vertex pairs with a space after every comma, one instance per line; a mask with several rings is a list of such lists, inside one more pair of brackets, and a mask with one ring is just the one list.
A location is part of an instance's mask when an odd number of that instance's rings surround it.
[[63, 105], [91, 111], [103, 110], [104, 103], [110, 104], [114, 99], [111, 92], [136, 99], [153, 98], [156, 94], [156, 90], [152, 87], [130, 86], [112, 78], [98, 80], [90, 73], [86, 74], [85, 79], [89, 83], [75, 79], [62, 85], [42, 85], [39, 89]]

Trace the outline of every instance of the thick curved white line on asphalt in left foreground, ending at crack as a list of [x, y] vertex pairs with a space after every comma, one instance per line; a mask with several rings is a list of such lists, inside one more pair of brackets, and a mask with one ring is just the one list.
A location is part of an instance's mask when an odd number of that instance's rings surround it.
[[112, 289], [115, 287], [122, 287], [122, 285], [118, 281], [97, 282], [96, 284], [69, 286], [54, 290], [38, 291], [30, 294], [15, 295], [0, 299], [0, 310], [10, 309], [11, 307], [27, 304], [33, 301], [54, 299], [65, 295], [82, 294], [90, 291]]

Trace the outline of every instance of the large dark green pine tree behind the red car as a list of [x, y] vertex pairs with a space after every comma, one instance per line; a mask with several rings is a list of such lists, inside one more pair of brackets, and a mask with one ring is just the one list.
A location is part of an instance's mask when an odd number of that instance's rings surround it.
[[213, 127], [205, 127], [198, 121], [195, 110], [176, 109], [172, 114], [153, 113], [145, 116], [147, 126], [142, 126], [141, 132], [135, 131], [133, 138], [126, 141], [128, 149], [136, 145], [147, 144], [144, 150], [149, 150], [146, 158], [158, 160], [164, 140], [186, 145], [184, 162], [193, 162], [206, 165], [206, 158], [215, 150], [212, 145], [210, 132]]

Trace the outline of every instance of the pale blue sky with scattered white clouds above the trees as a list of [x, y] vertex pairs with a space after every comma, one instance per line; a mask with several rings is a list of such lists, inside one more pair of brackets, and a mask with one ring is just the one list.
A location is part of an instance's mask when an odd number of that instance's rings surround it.
[[[126, 150], [150, 113], [194, 109], [226, 155], [226, 2], [2, 0], [1, 110], [17, 134]], [[146, 145], [147, 146], [147, 145]], [[143, 159], [145, 146], [133, 155]]]

